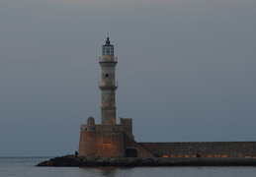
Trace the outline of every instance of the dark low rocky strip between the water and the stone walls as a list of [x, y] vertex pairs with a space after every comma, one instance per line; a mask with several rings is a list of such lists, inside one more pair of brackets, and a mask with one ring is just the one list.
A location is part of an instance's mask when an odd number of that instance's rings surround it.
[[36, 166], [256, 166], [256, 158], [94, 158], [65, 155], [43, 161]]

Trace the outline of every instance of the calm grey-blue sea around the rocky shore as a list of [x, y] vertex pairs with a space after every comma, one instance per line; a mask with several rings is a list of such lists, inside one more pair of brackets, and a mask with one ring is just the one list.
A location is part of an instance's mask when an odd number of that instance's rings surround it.
[[0, 177], [255, 177], [256, 167], [37, 167], [51, 157], [0, 157]]

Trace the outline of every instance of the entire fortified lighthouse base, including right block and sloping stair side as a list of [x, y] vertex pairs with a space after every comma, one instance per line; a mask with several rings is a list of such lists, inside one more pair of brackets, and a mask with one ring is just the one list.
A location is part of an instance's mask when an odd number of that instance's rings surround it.
[[97, 125], [94, 118], [89, 117], [87, 124], [80, 127], [80, 156], [126, 157], [130, 150], [134, 156], [153, 156], [134, 141], [132, 119], [121, 118], [120, 125]]

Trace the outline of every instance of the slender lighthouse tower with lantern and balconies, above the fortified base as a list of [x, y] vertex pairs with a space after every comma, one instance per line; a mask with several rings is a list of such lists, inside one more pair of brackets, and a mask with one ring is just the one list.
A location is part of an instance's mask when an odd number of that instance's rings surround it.
[[102, 46], [102, 57], [99, 61], [101, 65], [101, 84], [99, 88], [102, 94], [101, 116], [103, 125], [116, 124], [116, 89], [115, 68], [118, 63], [114, 55], [114, 45], [110, 38]]

